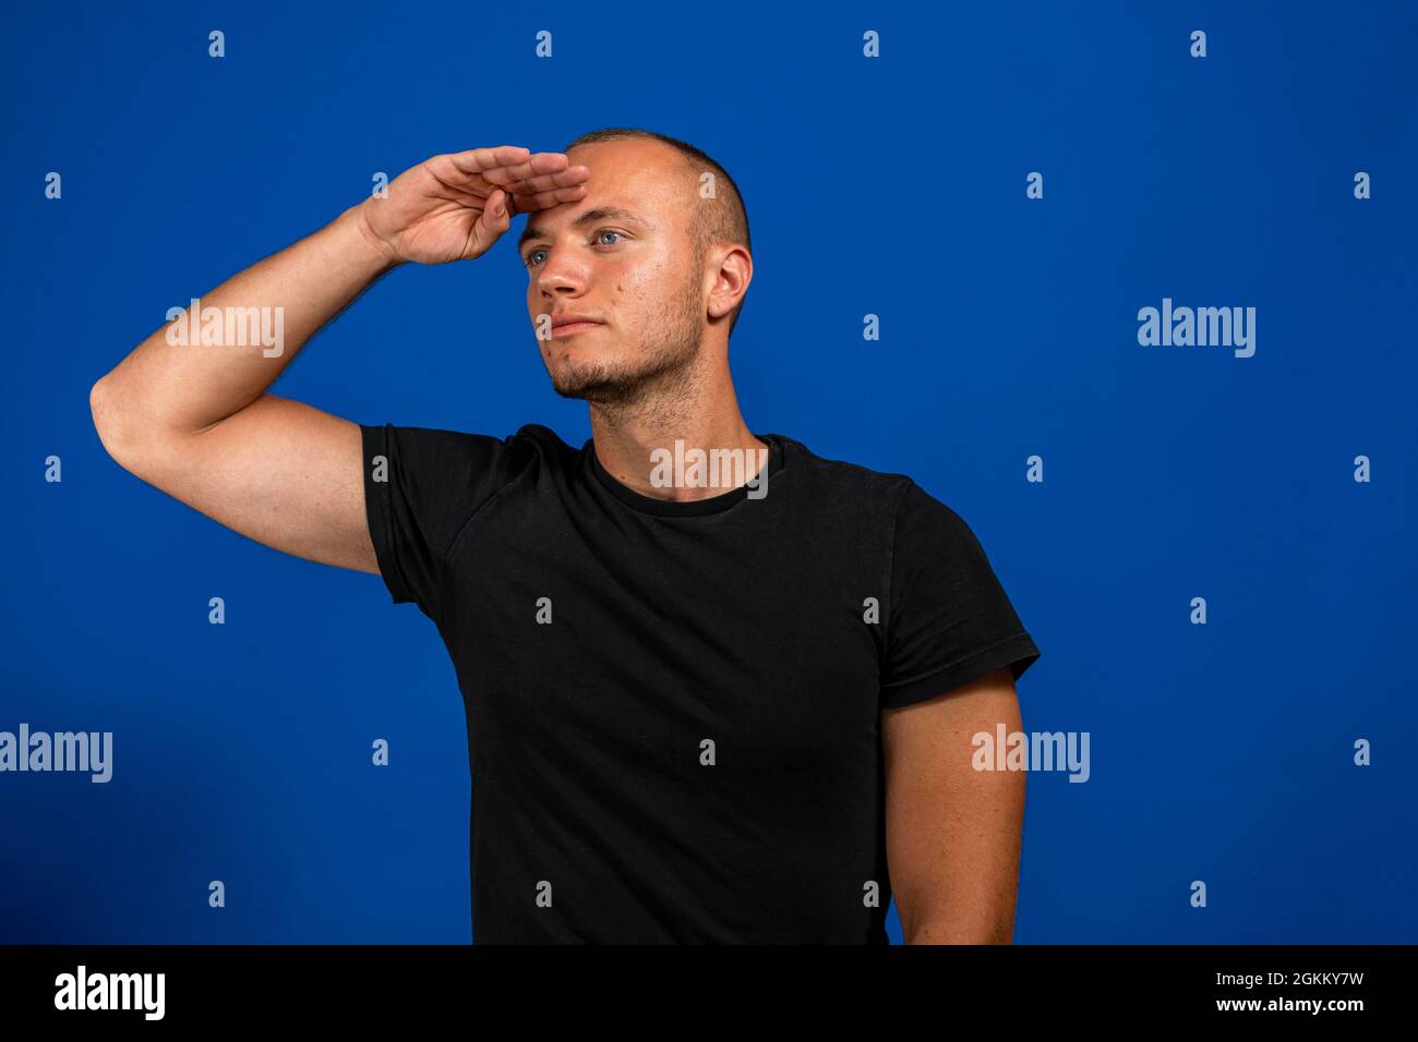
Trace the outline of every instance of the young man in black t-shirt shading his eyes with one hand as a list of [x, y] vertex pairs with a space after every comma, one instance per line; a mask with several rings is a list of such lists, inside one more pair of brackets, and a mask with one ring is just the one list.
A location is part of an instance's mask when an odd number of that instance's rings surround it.
[[[580, 449], [268, 391], [383, 272], [482, 257], [515, 214]], [[1039, 652], [959, 515], [744, 424], [750, 251], [737, 186], [672, 138], [435, 156], [201, 298], [284, 309], [284, 350], [164, 327], [94, 387], [135, 475], [437, 624], [478, 943], [885, 943], [893, 892], [909, 943], [1011, 940], [1024, 775], [973, 770], [971, 736], [1020, 730]]]

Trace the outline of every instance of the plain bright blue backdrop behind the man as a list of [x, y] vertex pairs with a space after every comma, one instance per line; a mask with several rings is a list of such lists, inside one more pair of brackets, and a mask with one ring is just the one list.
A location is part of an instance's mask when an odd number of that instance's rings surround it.
[[[115, 774], [0, 774], [0, 941], [469, 940], [434, 627], [123, 472], [88, 391], [376, 170], [618, 125], [743, 189], [750, 428], [959, 510], [1042, 651], [1025, 730], [1092, 736], [1029, 778], [1015, 940], [1418, 941], [1415, 55], [1408, 3], [13, 9], [0, 730], [111, 730]], [[406, 267], [275, 390], [579, 445], [525, 279]], [[1255, 306], [1255, 357], [1139, 346], [1164, 296]]]

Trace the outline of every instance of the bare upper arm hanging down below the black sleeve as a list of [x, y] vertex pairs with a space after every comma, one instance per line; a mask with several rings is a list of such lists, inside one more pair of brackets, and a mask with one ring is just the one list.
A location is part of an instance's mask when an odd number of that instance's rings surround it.
[[886, 858], [906, 937], [1010, 937], [1025, 775], [976, 770], [984, 732], [1021, 730], [1010, 668], [900, 709], [882, 710]]

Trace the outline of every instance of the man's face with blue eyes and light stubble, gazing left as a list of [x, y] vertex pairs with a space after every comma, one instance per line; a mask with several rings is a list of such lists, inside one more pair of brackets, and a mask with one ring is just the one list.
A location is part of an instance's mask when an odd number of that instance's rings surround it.
[[[570, 164], [590, 169], [586, 198], [527, 217], [519, 244], [527, 312], [553, 323], [539, 340], [556, 393], [632, 403], [675, 383], [698, 357], [706, 323], [699, 258], [689, 238], [692, 172], [654, 140], [583, 145]], [[611, 211], [611, 213], [603, 213]], [[532, 235], [527, 237], [526, 233]]]

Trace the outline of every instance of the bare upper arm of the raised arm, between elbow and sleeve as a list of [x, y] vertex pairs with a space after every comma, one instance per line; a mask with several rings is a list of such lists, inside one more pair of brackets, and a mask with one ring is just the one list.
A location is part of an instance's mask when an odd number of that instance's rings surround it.
[[357, 424], [262, 394], [203, 431], [169, 435], [128, 469], [275, 550], [377, 573], [363, 466]]

